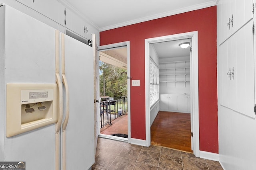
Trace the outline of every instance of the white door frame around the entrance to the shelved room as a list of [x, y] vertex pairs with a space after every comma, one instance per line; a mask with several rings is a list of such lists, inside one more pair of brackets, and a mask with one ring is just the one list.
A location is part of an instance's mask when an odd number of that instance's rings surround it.
[[174, 41], [179, 39], [192, 40], [192, 56], [190, 55], [190, 111], [191, 116], [191, 131], [193, 132], [193, 152], [195, 156], [200, 156], [199, 150], [199, 102], [198, 102], [198, 31], [187, 33], [179, 33], [166, 35], [162, 37], [154, 37], [145, 39], [145, 111], [146, 111], [146, 146], [150, 146], [150, 44], [160, 43], [165, 41]]

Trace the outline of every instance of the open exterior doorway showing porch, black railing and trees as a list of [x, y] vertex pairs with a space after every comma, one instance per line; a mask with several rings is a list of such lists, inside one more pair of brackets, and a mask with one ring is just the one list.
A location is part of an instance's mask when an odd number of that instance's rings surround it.
[[[126, 43], [126, 42], [125, 42]], [[100, 46], [100, 137], [130, 137], [129, 43]]]

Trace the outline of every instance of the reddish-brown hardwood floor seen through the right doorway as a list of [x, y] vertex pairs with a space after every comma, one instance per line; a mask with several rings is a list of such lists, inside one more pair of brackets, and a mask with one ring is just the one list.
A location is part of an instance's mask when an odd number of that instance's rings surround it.
[[191, 150], [190, 113], [159, 111], [151, 126], [151, 145]]

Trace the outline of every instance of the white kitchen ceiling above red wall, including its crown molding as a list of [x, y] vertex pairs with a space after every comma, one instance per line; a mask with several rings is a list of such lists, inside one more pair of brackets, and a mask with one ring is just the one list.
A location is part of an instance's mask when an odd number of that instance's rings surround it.
[[100, 31], [216, 5], [217, 0], [60, 0]]

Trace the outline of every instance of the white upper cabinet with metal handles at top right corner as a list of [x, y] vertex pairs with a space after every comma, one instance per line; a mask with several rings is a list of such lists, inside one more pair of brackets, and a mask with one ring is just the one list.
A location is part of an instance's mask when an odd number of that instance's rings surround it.
[[220, 45], [253, 18], [253, 0], [220, 0], [217, 11]]

